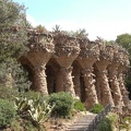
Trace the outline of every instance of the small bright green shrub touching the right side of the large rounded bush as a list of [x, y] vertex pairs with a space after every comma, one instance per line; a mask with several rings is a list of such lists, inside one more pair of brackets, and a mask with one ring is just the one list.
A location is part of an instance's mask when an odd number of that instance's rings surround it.
[[74, 100], [74, 109], [76, 109], [78, 111], [86, 111], [84, 104], [79, 99]]

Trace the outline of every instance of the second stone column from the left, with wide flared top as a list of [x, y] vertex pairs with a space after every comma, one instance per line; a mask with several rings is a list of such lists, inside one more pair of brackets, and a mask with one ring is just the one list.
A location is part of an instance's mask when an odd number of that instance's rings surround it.
[[[61, 67], [59, 75], [61, 76], [56, 80], [56, 86], [57, 91], [59, 91], [59, 86], [62, 86], [64, 92], [69, 92], [72, 95], [75, 95], [74, 93], [74, 85], [72, 81], [72, 62], [75, 60], [75, 58], [79, 56], [80, 52], [80, 45], [74, 37], [69, 37], [64, 33], [57, 33], [55, 35], [55, 45], [56, 45], [56, 53], [55, 59]], [[61, 91], [61, 90], [60, 90]]]

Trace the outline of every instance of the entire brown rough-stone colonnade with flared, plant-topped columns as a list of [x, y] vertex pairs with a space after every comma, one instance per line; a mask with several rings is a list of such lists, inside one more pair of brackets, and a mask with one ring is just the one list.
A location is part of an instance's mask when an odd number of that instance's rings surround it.
[[[118, 107], [128, 105], [123, 74], [129, 59], [123, 48], [106, 46], [102, 38], [91, 41], [85, 36], [35, 31], [28, 32], [28, 47], [24, 58], [32, 64], [33, 90], [46, 95], [52, 91], [84, 97], [87, 109], [98, 103]], [[53, 73], [48, 73], [49, 66]]]

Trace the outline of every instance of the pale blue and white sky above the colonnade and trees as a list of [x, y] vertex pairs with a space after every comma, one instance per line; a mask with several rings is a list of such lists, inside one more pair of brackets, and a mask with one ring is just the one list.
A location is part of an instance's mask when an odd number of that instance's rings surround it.
[[90, 39], [99, 36], [115, 40], [131, 33], [131, 0], [13, 0], [24, 4], [26, 17], [35, 27], [39, 24], [51, 31], [85, 28]]

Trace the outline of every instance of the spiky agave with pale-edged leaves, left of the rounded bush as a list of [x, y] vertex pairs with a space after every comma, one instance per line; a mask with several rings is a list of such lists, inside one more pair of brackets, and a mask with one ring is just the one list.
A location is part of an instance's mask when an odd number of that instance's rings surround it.
[[21, 116], [27, 114], [39, 128], [40, 123], [50, 117], [53, 105], [50, 106], [40, 93], [28, 92], [15, 98], [15, 108]]

